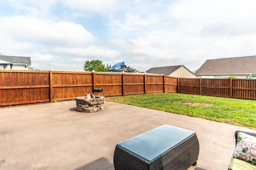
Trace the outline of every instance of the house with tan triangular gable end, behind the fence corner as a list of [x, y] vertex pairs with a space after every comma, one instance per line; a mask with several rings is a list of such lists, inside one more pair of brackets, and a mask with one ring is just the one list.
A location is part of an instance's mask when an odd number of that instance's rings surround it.
[[181, 77], [181, 78], [195, 78], [194, 73], [184, 65], [153, 67], [147, 70], [146, 73], [162, 74], [162, 75], [169, 75], [172, 77]]

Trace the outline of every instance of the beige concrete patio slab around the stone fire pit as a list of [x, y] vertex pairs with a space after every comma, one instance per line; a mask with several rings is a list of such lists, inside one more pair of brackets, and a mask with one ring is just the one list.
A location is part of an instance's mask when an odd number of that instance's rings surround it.
[[117, 143], [167, 124], [198, 136], [198, 165], [189, 170], [227, 170], [234, 132], [256, 132], [120, 103], [105, 102], [96, 113], [75, 107], [68, 101], [0, 109], [0, 169], [114, 170]]

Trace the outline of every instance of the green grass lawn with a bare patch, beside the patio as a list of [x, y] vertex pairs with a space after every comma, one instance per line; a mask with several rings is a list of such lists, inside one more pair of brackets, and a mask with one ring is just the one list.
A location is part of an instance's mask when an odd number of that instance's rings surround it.
[[256, 101], [180, 93], [126, 95], [105, 100], [256, 130]]

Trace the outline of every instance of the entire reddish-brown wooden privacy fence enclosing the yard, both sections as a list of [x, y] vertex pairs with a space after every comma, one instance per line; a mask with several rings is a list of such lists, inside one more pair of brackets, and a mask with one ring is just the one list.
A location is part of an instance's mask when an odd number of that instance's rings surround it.
[[254, 79], [194, 79], [166, 75], [0, 71], [0, 106], [75, 99], [102, 88], [103, 96], [144, 93], [186, 93], [256, 100]]

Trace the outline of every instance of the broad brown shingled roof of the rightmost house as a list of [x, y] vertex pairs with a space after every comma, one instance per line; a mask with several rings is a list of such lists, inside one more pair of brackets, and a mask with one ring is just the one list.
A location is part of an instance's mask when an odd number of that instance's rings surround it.
[[248, 57], [208, 59], [196, 71], [195, 75], [252, 73], [256, 73], [256, 55]]

